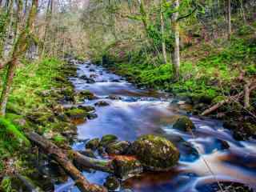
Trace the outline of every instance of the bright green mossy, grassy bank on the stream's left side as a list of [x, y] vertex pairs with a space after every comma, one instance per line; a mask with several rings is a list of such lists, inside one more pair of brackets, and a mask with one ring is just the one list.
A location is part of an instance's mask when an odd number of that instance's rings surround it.
[[[3, 77], [5, 71], [1, 71]], [[14, 86], [7, 104], [5, 118], [0, 118], [0, 181], [13, 171], [31, 174], [32, 151], [25, 133], [36, 131], [62, 143], [65, 131], [75, 126], [62, 116], [60, 102], [72, 100], [74, 89], [68, 81], [76, 69], [57, 58], [44, 58], [38, 62], [22, 61], [14, 78]], [[2, 180], [1, 190], [9, 191], [10, 180]]]

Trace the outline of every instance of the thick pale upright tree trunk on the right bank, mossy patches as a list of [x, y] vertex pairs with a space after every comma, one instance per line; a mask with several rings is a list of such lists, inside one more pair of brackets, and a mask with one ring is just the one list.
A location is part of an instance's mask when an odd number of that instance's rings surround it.
[[179, 0], [174, 1], [174, 9], [176, 12], [171, 17], [172, 29], [174, 33], [174, 50], [172, 51], [172, 62], [174, 66], [174, 79], [179, 78], [180, 58], [179, 58], [179, 25], [178, 25], [178, 7]]

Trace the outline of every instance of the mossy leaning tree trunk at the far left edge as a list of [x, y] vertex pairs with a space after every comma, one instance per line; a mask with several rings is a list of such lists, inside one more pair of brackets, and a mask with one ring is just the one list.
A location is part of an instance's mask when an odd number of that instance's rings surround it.
[[29, 17], [27, 18], [27, 21], [26, 21], [26, 26], [22, 30], [22, 32], [18, 35], [17, 41], [14, 44], [14, 50], [10, 58], [10, 61], [6, 63], [7, 73], [6, 73], [6, 79], [2, 86], [2, 94], [0, 98], [0, 115], [4, 116], [6, 114], [6, 103], [8, 101], [8, 97], [10, 94], [10, 88], [12, 86], [12, 82], [14, 79], [18, 58], [22, 54], [24, 54], [27, 50], [27, 47], [28, 47], [27, 38], [29, 37], [30, 31], [33, 28], [37, 11], [38, 11], [38, 0], [33, 0]]

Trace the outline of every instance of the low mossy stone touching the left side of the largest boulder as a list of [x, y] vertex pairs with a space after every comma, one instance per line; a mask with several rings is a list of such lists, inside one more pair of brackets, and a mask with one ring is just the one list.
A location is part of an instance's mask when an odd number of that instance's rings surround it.
[[130, 142], [112, 142], [106, 146], [106, 153], [108, 154], [126, 154], [130, 146]]

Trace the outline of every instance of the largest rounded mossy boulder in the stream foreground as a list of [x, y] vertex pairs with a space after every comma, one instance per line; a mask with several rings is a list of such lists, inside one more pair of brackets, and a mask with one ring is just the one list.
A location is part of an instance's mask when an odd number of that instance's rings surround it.
[[130, 147], [130, 153], [136, 155], [147, 170], [170, 170], [179, 159], [179, 151], [166, 138], [152, 134], [143, 135]]

